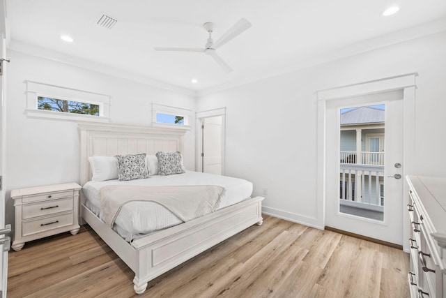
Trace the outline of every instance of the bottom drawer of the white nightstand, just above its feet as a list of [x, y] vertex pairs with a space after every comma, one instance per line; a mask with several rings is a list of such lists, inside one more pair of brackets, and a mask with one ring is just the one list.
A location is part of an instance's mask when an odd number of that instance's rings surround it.
[[24, 221], [22, 222], [22, 235], [28, 236], [47, 230], [65, 227], [66, 225], [72, 225], [73, 217], [71, 212], [68, 214], [37, 219], [36, 221]]

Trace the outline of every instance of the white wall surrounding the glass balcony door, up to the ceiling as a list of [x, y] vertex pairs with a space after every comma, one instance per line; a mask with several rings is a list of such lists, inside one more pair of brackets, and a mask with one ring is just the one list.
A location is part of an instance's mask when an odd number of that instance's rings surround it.
[[415, 172], [446, 176], [446, 32], [201, 96], [197, 111], [226, 107], [226, 174], [254, 182], [265, 211], [321, 226], [316, 91], [418, 73]]

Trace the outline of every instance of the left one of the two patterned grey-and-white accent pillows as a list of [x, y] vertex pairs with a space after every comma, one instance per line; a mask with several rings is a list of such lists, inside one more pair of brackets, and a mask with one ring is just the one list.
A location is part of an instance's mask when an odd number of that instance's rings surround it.
[[118, 180], [128, 181], [148, 178], [146, 154], [116, 155], [118, 158]]

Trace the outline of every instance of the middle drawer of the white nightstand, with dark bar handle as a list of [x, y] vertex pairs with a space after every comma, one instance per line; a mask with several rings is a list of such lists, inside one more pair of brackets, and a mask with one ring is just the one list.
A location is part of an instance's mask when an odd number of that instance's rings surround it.
[[72, 210], [73, 199], [50, 200], [35, 204], [26, 204], [22, 206], [22, 219], [28, 219], [48, 214], [55, 214], [63, 211]]

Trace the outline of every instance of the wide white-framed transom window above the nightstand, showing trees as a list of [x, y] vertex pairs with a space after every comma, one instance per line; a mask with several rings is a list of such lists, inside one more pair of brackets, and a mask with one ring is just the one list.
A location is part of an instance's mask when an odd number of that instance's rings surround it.
[[26, 115], [72, 121], [109, 121], [110, 96], [39, 82], [26, 83]]

